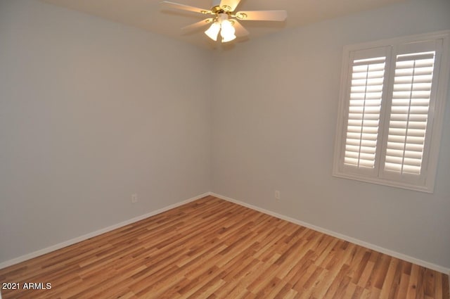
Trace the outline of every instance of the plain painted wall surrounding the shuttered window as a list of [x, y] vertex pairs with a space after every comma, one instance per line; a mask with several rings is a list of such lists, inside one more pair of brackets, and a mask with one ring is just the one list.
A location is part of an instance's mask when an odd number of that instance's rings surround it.
[[331, 170], [343, 46], [450, 29], [449, 15], [449, 1], [407, 1], [220, 53], [212, 191], [448, 269], [450, 103], [435, 193]]

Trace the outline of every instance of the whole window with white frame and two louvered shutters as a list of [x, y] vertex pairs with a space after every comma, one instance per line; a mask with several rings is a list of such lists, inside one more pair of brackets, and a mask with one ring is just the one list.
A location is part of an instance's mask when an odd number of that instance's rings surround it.
[[346, 46], [333, 175], [432, 193], [450, 31]]

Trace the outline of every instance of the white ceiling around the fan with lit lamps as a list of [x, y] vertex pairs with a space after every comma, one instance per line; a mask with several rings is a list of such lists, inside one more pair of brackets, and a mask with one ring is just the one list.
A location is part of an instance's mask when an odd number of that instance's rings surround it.
[[[139, 27], [204, 48], [214, 49], [218, 46], [203, 34], [207, 27], [190, 33], [181, 32], [181, 27], [203, 20], [205, 15], [162, 9], [159, 0], [41, 1]], [[209, 9], [212, 6], [212, 0], [170, 1], [199, 8]], [[250, 36], [246, 39], [237, 39], [235, 43], [248, 42], [266, 34], [285, 30], [285, 28], [299, 27], [404, 1], [409, 0], [241, 0], [236, 11], [285, 10], [288, 11], [288, 20], [285, 22], [242, 21], [241, 24], [250, 32]]]

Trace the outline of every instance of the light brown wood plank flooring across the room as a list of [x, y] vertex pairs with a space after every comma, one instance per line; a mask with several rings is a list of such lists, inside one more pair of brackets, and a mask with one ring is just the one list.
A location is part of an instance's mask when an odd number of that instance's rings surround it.
[[449, 299], [445, 274], [212, 196], [1, 269], [0, 281], [20, 283], [4, 299]]

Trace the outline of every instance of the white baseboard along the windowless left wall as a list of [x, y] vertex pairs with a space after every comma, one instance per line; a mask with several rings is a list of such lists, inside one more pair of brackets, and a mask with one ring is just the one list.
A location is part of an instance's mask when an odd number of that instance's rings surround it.
[[81, 242], [81, 241], [84, 241], [84, 240], [87, 240], [88, 238], [92, 238], [94, 236], [105, 234], [108, 231], [113, 231], [114, 229], [118, 229], [120, 227], [124, 227], [125, 225], [131, 224], [131, 223], [134, 223], [134, 222], [138, 222], [140, 220], [146, 219], [148, 217], [152, 217], [154, 215], [158, 215], [158, 214], [160, 214], [162, 212], [165, 212], [167, 210], [172, 210], [173, 208], [179, 207], [180, 205], [184, 205], [186, 203], [190, 203], [191, 201], [196, 201], [196, 200], [198, 200], [200, 198], [203, 198], [203, 197], [209, 196], [209, 195], [210, 195], [210, 192], [203, 193], [203, 194], [201, 194], [199, 196], [195, 196], [193, 198], [186, 199], [186, 201], [181, 201], [179, 203], [174, 203], [173, 205], [168, 205], [165, 208], [161, 208], [161, 209], [158, 209], [158, 210], [155, 210], [155, 211], [152, 211], [152, 212], [148, 212], [148, 213], [146, 213], [144, 215], [141, 215], [141, 216], [138, 216], [138, 217], [134, 217], [134, 218], [132, 218], [130, 220], [125, 220], [124, 222], [113, 224], [110, 227], [105, 227], [104, 229], [99, 229], [98, 231], [94, 231], [94, 232], [91, 232], [89, 234], [85, 234], [83, 236], [79, 236], [77, 238], [72, 238], [72, 239], [70, 239], [68, 241], [64, 241], [64, 242], [58, 243], [56, 245], [53, 245], [53, 246], [50, 246], [50, 247], [47, 247], [47, 248], [43, 248], [43, 249], [40, 249], [40, 250], [37, 250], [37, 251], [34, 251], [32, 253], [28, 253], [28, 254], [22, 255], [20, 257], [15, 257], [12, 260], [7, 260], [5, 262], [0, 262], [0, 269], [4, 269], [6, 267], [18, 264], [19, 262], [24, 262], [25, 260], [30, 260], [30, 259], [32, 259], [34, 257], [38, 257], [39, 255], [44, 255], [46, 253], [51, 253], [52, 251], [55, 251], [55, 250], [58, 250], [58, 249], [70, 246], [72, 244], [75, 244], [75, 243], [78, 243], [78, 242]]

